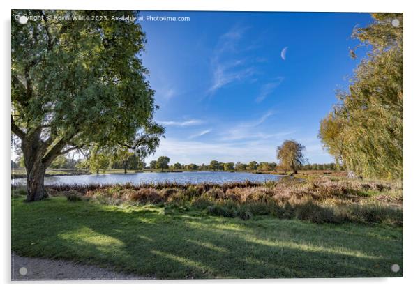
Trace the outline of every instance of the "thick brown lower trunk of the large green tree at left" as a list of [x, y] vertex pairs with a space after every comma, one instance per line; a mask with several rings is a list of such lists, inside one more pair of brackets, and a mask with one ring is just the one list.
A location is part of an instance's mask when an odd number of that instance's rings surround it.
[[27, 166], [27, 201], [38, 201], [48, 197], [44, 187], [45, 170], [40, 161]]

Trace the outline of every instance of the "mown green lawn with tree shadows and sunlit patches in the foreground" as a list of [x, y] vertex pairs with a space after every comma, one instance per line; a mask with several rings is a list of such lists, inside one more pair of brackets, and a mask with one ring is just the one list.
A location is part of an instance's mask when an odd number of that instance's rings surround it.
[[[158, 278], [402, 277], [403, 229], [12, 199], [12, 250]], [[391, 265], [399, 264], [399, 273]]]

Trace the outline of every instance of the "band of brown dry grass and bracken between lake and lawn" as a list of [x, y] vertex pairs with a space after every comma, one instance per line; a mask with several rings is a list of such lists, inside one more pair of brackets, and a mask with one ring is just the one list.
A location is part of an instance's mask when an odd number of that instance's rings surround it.
[[283, 178], [267, 183], [158, 183], [141, 185], [58, 185], [47, 191], [68, 200], [100, 204], [158, 204], [166, 208], [195, 208], [211, 215], [257, 215], [315, 223], [367, 222], [403, 225], [401, 182], [362, 181], [337, 176]]

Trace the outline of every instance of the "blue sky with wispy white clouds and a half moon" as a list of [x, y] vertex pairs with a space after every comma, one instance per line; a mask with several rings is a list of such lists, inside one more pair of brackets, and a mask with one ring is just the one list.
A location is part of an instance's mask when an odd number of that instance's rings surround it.
[[[354, 26], [366, 13], [140, 12], [190, 17], [141, 22], [144, 66], [166, 128], [156, 153], [174, 162], [276, 162], [295, 139], [311, 163], [332, 162], [317, 139], [320, 120], [345, 89]], [[283, 51], [283, 56], [282, 56]]]

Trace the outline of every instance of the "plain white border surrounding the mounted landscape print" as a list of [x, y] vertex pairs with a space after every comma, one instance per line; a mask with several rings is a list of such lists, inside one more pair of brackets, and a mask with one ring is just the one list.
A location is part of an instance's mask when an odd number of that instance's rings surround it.
[[[264, 287], [293, 287], [293, 289], [352, 289], [354, 288], [380, 288], [380, 289], [410, 289], [419, 284], [417, 273], [419, 270], [419, 220], [420, 192], [416, 183], [419, 171], [419, 89], [417, 77], [419, 76], [420, 47], [418, 40], [419, 10], [415, 1], [269, 1], [269, 0], [130, 0], [130, 1], [87, 1], [73, 0], [59, 3], [57, 0], [24, 1], [14, 0], [12, 3], [1, 2], [1, 137], [3, 142], [0, 164], [3, 166], [1, 174], [1, 192], [3, 211], [1, 211], [1, 225], [3, 226], [1, 259], [1, 282], [8, 283], [10, 287], [10, 9], [11, 8], [52, 8], [52, 9], [115, 9], [115, 10], [230, 10], [230, 11], [308, 11], [308, 12], [403, 12], [404, 13], [404, 278], [394, 279], [304, 279], [304, 280], [158, 280], [147, 282], [118, 282], [122, 287], [148, 287], [151, 289], [171, 287], [174, 289], [214, 289], [241, 287], [255, 289], [262, 284]], [[114, 289], [115, 282], [61, 282], [65, 289], [88, 288], [90, 284], [100, 284], [104, 289]], [[27, 283], [17, 284], [17, 288], [28, 287]], [[93, 286], [93, 285], [92, 285]], [[36, 282], [31, 285], [33, 289], [56, 289], [57, 282]]]

